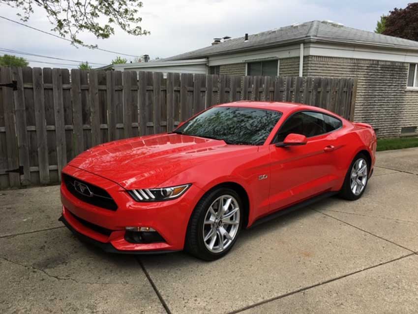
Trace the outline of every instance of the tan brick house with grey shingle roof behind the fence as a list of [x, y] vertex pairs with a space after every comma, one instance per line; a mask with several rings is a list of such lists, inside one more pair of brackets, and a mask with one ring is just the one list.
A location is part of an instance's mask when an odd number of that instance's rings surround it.
[[[355, 120], [379, 137], [418, 135], [418, 42], [311, 21], [229, 39], [157, 63], [129, 69], [187, 71], [198, 62], [211, 74], [358, 78]], [[166, 66], [167, 65], [167, 66]], [[118, 69], [128, 69], [123, 67]], [[180, 70], [179, 70], [180, 69]]]

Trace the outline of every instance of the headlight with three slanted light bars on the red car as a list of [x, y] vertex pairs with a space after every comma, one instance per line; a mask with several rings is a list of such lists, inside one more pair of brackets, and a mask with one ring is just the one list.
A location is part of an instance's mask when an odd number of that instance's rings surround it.
[[191, 184], [184, 184], [182, 186], [169, 188], [141, 188], [131, 189], [128, 193], [137, 202], [158, 202], [166, 201], [181, 196]]

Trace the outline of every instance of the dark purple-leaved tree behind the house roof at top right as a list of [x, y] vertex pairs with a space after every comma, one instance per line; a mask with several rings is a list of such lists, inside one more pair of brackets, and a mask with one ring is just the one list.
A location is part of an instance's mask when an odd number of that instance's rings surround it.
[[390, 11], [382, 33], [418, 41], [418, 2], [409, 3], [405, 9]]

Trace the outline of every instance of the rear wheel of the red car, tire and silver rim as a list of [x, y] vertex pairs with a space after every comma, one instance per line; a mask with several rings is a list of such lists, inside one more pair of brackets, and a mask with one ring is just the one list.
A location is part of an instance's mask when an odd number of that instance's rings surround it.
[[358, 154], [350, 165], [340, 195], [348, 200], [356, 200], [363, 195], [367, 186], [369, 167], [367, 157]]

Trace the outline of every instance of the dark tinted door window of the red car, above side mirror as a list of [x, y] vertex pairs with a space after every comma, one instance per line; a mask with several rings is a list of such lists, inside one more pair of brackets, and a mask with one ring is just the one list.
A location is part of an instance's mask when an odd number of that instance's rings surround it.
[[[336, 122], [330, 121], [327, 125], [325, 121], [325, 116], [320, 112], [313, 111], [303, 111], [294, 114], [290, 119], [288, 119], [284, 125], [280, 128], [279, 133], [277, 134], [277, 142], [283, 142], [285, 137], [290, 133], [297, 133], [305, 135], [306, 137], [316, 136], [329, 132], [328, 129], [331, 129], [332, 123], [336, 125]], [[327, 116], [328, 117], [328, 116]], [[330, 119], [334, 119], [329, 117]], [[337, 122], [341, 123], [339, 120]], [[338, 128], [338, 127], [337, 127]]]

